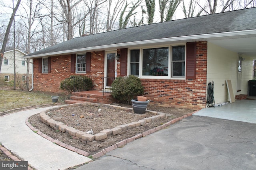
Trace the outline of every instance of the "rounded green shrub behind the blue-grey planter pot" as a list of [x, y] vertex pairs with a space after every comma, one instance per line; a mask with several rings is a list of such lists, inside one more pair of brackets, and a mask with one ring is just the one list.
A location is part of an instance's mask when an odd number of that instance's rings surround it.
[[118, 77], [111, 85], [111, 94], [119, 102], [130, 104], [133, 98], [144, 93], [140, 79], [134, 75]]

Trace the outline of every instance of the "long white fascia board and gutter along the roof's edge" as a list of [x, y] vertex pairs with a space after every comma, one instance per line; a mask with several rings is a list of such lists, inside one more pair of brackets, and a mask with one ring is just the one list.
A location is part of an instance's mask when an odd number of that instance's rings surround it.
[[151, 39], [151, 40], [144, 40], [144, 41], [134, 41], [134, 42], [128, 42], [128, 43], [119, 43], [119, 44], [110, 44], [110, 45], [102, 45], [102, 46], [96, 46], [96, 47], [87, 47], [82, 49], [73, 49], [73, 50], [67, 50], [67, 51], [57, 51], [53, 53], [45, 53], [45, 54], [39, 54], [39, 55], [32, 55], [24, 58], [38, 58], [38, 57], [45, 57], [45, 56], [53, 56], [53, 55], [61, 55], [66, 53], [77, 53], [80, 51], [96, 51], [101, 49], [109, 49], [109, 48], [116, 48], [116, 47], [124, 47], [124, 46], [131, 46], [131, 45], [145, 45], [149, 43], [162, 43], [162, 42], [172, 42], [172, 41], [189, 41], [196, 39], [211, 39], [211, 38], [224, 38], [224, 37], [236, 37], [236, 36], [244, 36], [244, 35], [254, 35], [256, 36], [256, 29], [252, 30], [245, 30], [245, 31], [233, 31], [233, 32], [224, 32], [224, 33], [210, 33], [210, 34], [202, 34], [202, 35], [188, 35], [188, 36], [182, 36], [182, 37], [170, 37], [170, 38], [162, 38], [162, 39]]

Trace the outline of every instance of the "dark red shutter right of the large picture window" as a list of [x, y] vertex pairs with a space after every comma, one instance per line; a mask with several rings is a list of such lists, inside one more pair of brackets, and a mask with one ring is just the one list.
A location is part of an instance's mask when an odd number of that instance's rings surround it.
[[196, 42], [186, 44], [186, 79], [196, 78]]

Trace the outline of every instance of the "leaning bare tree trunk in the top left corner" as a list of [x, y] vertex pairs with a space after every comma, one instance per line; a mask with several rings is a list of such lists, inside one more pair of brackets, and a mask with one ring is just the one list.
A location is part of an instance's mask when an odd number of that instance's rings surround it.
[[7, 26], [7, 29], [6, 29], [6, 32], [5, 32], [5, 35], [4, 35], [4, 41], [3, 41], [3, 44], [2, 44], [2, 49], [1, 49], [1, 57], [0, 57], [0, 72], [1, 72], [1, 67], [2, 67], [2, 62], [3, 62], [3, 57], [4, 57], [4, 51], [5, 51], [5, 48], [6, 48], [6, 43], [7, 43], [7, 39], [8, 39], [8, 36], [9, 36], [9, 33], [10, 33], [10, 29], [11, 29], [11, 26], [12, 26], [12, 22], [14, 20], [14, 16], [18, 10], [18, 7], [20, 5], [20, 1], [21, 0], [18, 0], [13, 12], [12, 12], [12, 16], [10, 18], [10, 21], [9, 21], [9, 24]]

